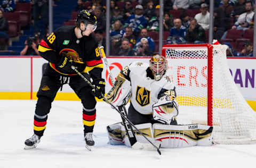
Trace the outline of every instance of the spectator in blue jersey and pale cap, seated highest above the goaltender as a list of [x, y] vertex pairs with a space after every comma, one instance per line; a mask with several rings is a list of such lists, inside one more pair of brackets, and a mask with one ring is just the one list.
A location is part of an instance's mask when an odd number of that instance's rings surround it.
[[138, 36], [142, 28], [147, 27], [147, 20], [143, 16], [143, 7], [141, 5], [136, 5], [135, 14], [132, 14], [127, 18], [124, 27], [130, 26], [133, 30], [133, 34]]

